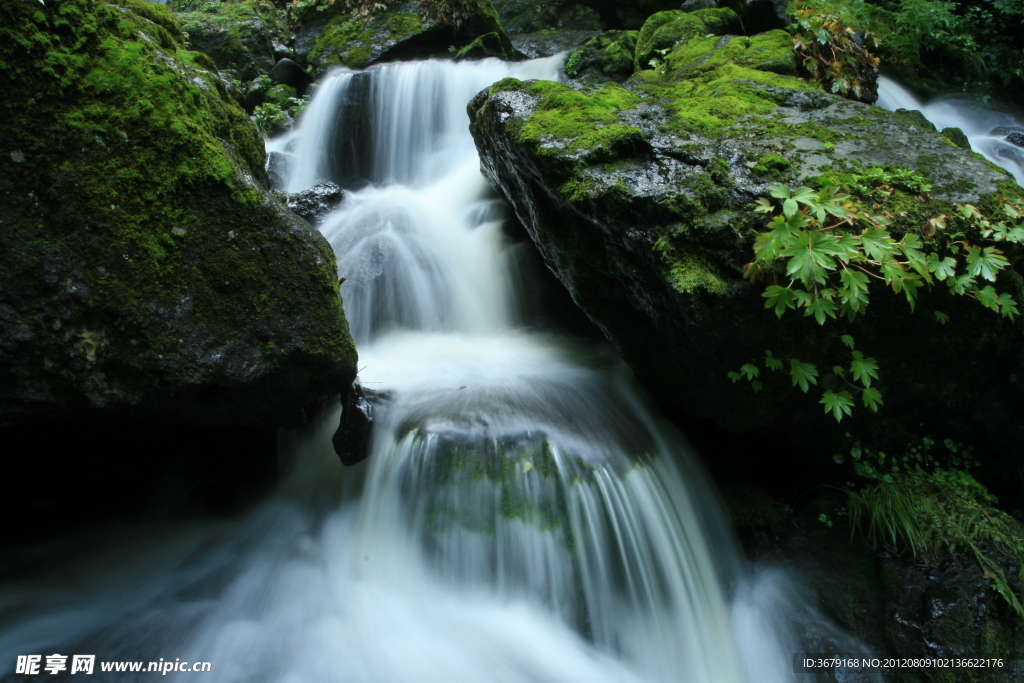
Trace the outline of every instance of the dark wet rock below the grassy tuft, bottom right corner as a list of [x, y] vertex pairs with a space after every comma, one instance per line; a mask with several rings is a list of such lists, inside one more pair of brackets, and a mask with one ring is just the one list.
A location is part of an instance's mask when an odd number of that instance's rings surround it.
[[[1024, 673], [1024, 623], [993, 589], [978, 562], [943, 552], [927, 561], [876, 551], [852, 533], [845, 496], [801, 501], [793, 511], [753, 485], [724, 492], [752, 560], [785, 567], [821, 611], [874, 653], [888, 657], [1002, 657], [1002, 668], [969, 676], [935, 670], [886, 673], [888, 683], [1016, 683]], [[1009, 575], [1019, 567], [997, 549]], [[964, 674], [965, 672], [957, 672]]]

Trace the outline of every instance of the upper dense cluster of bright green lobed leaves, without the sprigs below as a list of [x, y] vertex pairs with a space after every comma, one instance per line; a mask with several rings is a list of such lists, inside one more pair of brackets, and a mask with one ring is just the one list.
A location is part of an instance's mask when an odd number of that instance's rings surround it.
[[[861, 188], [865, 182], [884, 181], [864, 195], [891, 193], [894, 182], [928, 188], [922, 181], [886, 178], [879, 171], [858, 176]], [[770, 194], [775, 202], [762, 198], [755, 208], [769, 218], [768, 230], [756, 240], [745, 276], [773, 281], [765, 290], [765, 305], [779, 316], [802, 308], [820, 325], [837, 317], [852, 322], [867, 308], [871, 283], [902, 294], [911, 309], [922, 288], [942, 283], [951, 293], [974, 298], [1011, 319], [1019, 312], [1016, 300], [993, 285], [1010, 265], [995, 245], [1024, 241], [1020, 206], [1004, 204], [1002, 215], [990, 219], [970, 204], [957, 205], [952, 216], [935, 216], [897, 240], [890, 216], [873, 213], [864, 200], [838, 185], [820, 190], [774, 185]]]

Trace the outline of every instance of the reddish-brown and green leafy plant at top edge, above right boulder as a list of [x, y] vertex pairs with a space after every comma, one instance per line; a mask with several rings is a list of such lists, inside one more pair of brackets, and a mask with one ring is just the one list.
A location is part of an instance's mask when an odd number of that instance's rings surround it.
[[[849, 7], [863, 7], [850, 2]], [[873, 90], [879, 58], [874, 37], [846, 6], [825, 0], [794, 0], [793, 45], [805, 75], [831, 92], [864, 99]], [[867, 101], [873, 101], [870, 97]]]

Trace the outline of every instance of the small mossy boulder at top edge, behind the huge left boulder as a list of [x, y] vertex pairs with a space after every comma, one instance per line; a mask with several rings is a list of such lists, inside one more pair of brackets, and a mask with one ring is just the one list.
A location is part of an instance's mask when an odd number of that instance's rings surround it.
[[220, 71], [251, 81], [274, 63], [273, 43], [287, 20], [270, 3], [254, 0], [175, 0], [172, 5], [189, 49], [213, 59]]

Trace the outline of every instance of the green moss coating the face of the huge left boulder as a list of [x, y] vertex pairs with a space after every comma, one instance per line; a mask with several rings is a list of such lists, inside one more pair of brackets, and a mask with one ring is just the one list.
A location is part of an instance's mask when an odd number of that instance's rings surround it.
[[[183, 319], [205, 325], [202, 344], [215, 347], [240, 334], [280, 333], [308, 305], [295, 331], [315, 349], [307, 357], [354, 360], [333, 254], [289, 233], [247, 184], [265, 182], [252, 124], [214, 74], [194, 68], [202, 59], [180, 47], [158, 54], [140, 37], [156, 26], [152, 16], [174, 26], [165, 7], [123, 4], [0, 8], [0, 139], [25, 155], [0, 169], [5, 229], [23, 261], [13, 269], [5, 261], [5, 276], [27, 288], [40, 263], [65, 268], [59, 276], [90, 293], [88, 305], [69, 305], [65, 329], [105, 331], [96, 332], [105, 341], [95, 362], [109, 381], [138, 391], [216, 372], [181, 355]], [[180, 32], [172, 43], [183, 45]], [[28, 197], [39, 205], [18, 199]], [[308, 271], [297, 273], [298, 263]], [[269, 303], [256, 303], [261, 294]], [[40, 305], [48, 296], [40, 293]], [[41, 344], [18, 362], [42, 368], [47, 355], [68, 352]], [[138, 368], [146, 371], [131, 372]]]

